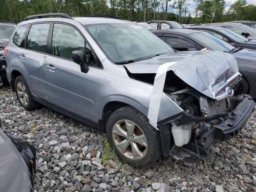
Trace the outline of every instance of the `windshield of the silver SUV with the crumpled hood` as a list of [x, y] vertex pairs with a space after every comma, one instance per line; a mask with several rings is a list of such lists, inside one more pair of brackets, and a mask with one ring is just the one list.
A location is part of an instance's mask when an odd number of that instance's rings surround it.
[[137, 24], [104, 23], [84, 27], [114, 63], [135, 62], [174, 52], [160, 38]]

